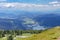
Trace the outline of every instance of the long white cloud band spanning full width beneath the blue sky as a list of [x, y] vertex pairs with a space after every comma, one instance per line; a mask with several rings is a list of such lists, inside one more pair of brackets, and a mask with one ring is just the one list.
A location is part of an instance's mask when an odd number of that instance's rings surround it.
[[[51, 3], [51, 2], [50, 2]], [[57, 3], [57, 2], [55, 2]], [[60, 4], [0, 3], [0, 9], [19, 9], [26, 11], [49, 11], [60, 8]]]

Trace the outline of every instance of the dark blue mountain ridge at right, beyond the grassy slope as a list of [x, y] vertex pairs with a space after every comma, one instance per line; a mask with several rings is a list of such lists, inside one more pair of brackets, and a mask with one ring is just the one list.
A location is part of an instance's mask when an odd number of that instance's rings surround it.
[[[36, 19], [37, 18], [37, 19]], [[47, 27], [55, 27], [60, 26], [60, 15], [58, 14], [46, 14], [42, 17], [38, 16], [35, 19], [39, 22], [42, 26]]]

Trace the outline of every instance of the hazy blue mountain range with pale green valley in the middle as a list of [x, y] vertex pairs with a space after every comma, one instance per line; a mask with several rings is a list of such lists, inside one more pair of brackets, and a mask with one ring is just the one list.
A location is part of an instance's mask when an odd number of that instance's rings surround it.
[[60, 14], [41, 12], [0, 12], [0, 29], [2, 30], [44, 30], [60, 26]]

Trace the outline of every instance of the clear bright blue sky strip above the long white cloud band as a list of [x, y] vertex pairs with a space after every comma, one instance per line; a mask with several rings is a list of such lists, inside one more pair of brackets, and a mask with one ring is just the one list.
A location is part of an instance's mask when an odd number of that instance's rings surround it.
[[45, 4], [48, 3], [50, 1], [48, 0], [8, 0], [9, 2], [22, 2], [22, 3], [36, 3], [36, 4]]

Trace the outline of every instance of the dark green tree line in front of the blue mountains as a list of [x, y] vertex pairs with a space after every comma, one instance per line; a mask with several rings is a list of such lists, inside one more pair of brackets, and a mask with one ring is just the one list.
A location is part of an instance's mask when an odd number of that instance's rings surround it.
[[13, 40], [13, 37], [17, 35], [22, 35], [24, 33], [38, 34], [42, 30], [0, 30], [0, 38], [8, 36], [7, 40]]

